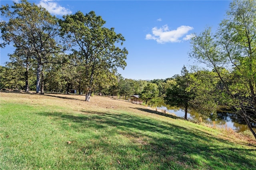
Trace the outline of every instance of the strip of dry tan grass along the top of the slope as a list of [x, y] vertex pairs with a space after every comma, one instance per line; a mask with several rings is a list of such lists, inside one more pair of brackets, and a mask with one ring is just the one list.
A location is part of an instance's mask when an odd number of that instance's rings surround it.
[[[76, 111], [84, 113], [86, 112], [99, 112], [102, 109], [110, 110], [122, 110], [137, 114], [146, 114], [152, 115], [151, 113], [145, 113], [144, 109], [152, 110], [150, 107], [145, 107], [138, 105], [123, 99], [113, 98], [113, 97], [104, 97], [96, 96], [90, 98], [90, 102], [85, 101], [85, 95], [73, 95], [73, 94], [45, 94], [37, 95], [35, 93], [23, 93], [23, 92], [13, 92], [13, 91], [2, 91], [6, 93], [0, 93], [1, 99], [8, 99], [14, 103], [19, 103], [22, 98], [22, 103], [28, 105], [45, 105], [45, 106], [64, 106], [69, 108], [70, 111]], [[63, 100], [60, 100], [63, 99]]]

